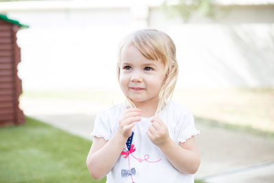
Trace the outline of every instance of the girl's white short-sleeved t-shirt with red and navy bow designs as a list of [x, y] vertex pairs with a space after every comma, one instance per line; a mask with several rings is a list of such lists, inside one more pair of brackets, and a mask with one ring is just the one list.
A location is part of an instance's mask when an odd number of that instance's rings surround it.
[[[125, 104], [122, 103], [100, 112], [95, 119], [92, 138], [103, 137], [108, 141], [119, 129], [119, 117], [125, 110]], [[141, 117], [141, 121], [136, 122], [132, 129], [134, 135], [128, 139], [125, 152], [108, 173], [107, 183], [194, 182], [193, 174], [177, 171], [160, 148], [149, 140], [147, 130], [151, 125], [151, 119], [153, 117]], [[169, 129], [170, 138], [177, 144], [184, 143], [188, 138], [199, 134], [190, 110], [175, 101], [164, 107], [160, 112], [160, 119]], [[106, 158], [102, 157], [102, 160]]]

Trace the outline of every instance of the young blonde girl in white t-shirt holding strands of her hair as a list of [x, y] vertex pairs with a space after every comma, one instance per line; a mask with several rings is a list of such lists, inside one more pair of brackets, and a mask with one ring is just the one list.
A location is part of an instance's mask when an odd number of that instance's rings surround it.
[[119, 47], [126, 102], [95, 119], [86, 164], [107, 182], [194, 182], [199, 134], [188, 108], [171, 101], [178, 75], [173, 40], [156, 29], [129, 34]]

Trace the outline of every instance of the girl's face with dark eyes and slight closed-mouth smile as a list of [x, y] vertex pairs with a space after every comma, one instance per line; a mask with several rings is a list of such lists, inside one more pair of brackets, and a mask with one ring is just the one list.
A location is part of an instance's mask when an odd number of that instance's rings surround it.
[[162, 61], [145, 58], [134, 45], [122, 49], [119, 84], [134, 104], [157, 103], [164, 76]]

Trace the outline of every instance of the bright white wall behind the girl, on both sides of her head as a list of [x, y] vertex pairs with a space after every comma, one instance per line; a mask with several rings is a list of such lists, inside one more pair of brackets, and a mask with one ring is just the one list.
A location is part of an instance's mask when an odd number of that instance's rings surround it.
[[119, 41], [143, 27], [161, 29], [175, 41], [177, 88], [274, 87], [273, 10], [236, 7], [213, 23], [200, 16], [182, 23], [143, 5], [4, 12], [30, 26], [17, 34], [18, 75], [23, 90], [42, 90], [119, 88]]

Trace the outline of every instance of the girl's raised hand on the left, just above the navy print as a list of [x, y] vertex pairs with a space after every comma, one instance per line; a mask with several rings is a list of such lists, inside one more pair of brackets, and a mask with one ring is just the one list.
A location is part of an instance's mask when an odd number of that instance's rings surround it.
[[119, 132], [125, 137], [129, 138], [132, 135], [132, 127], [134, 127], [137, 121], [141, 121], [141, 110], [139, 108], [129, 108], [121, 114], [119, 119]]

